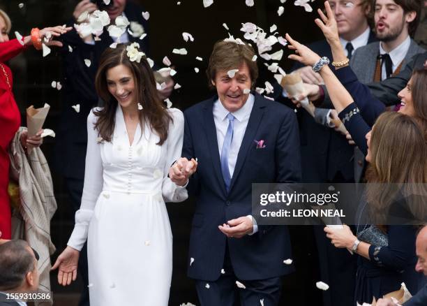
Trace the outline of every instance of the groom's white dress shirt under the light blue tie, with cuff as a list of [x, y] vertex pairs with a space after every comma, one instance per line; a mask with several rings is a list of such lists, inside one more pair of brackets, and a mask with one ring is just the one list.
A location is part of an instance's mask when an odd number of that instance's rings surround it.
[[[237, 162], [237, 154], [239, 154], [241, 142], [245, 136], [246, 126], [248, 126], [250, 112], [252, 112], [253, 103], [255, 102], [255, 96], [253, 94], [249, 94], [246, 103], [237, 111], [232, 112], [234, 116], [234, 128], [233, 128], [233, 138], [232, 143], [230, 145], [230, 151], [228, 153], [228, 170], [230, 170], [230, 177], [233, 177], [234, 168], [236, 168]], [[223, 103], [220, 100], [216, 100], [213, 103], [213, 120], [216, 126], [216, 138], [218, 140], [218, 150], [221, 156], [221, 152], [223, 150], [223, 143], [225, 134], [227, 133], [229, 120], [227, 119], [227, 115], [229, 111], [224, 107]], [[252, 220], [253, 224], [253, 232], [250, 235], [253, 235], [258, 231], [258, 226], [255, 219], [248, 215]]]

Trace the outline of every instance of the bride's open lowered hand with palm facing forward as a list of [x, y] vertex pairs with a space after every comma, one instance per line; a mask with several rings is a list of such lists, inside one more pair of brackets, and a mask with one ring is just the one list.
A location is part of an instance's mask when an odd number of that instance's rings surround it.
[[63, 252], [58, 256], [57, 261], [52, 269], [55, 270], [59, 267], [58, 283], [62, 286], [71, 284], [77, 278], [77, 265], [79, 262], [80, 252], [72, 247], [66, 247]]

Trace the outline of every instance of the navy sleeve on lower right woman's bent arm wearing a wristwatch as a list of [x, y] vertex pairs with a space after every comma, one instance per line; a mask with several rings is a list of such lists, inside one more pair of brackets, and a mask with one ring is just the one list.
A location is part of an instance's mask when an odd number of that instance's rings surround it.
[[[389, 245], [369, 247], [370, 261], [398, 272], [405, 270], [415, 256], [415, 230], [413, 226], [389, 226]], [[413, 268], [410, 268], [413, 269]]]

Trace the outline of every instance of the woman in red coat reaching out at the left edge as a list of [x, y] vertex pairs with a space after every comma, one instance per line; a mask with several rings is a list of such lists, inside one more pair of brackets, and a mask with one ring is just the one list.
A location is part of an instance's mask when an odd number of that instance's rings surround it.
[[[16, 131], [21, 124], [20, 110], [15, 102], [13, 96], [13, 77], [10, 68], [6, 66], [5, 61], [20, 54], [26, 50], [29, 45], [34, 45], [36, 48], [41, 47], [42, 39], [47, 37], [60, 36], [66, 33], [71, 28], [64, 28], [61, 26], [33, 29], [31, 36], [25, 36], [18, 41], [16, 38], [9, 41], [9, 31], [11, 23], [8, 15], [0, 10], [0, 232], [2, 239], [10, 239], [10, 203], [8, 196], [8, 182], [9, 182], [9, 156], [8, 146], [10, 141], [15, 136]], [[46, 45], [62, 44], [59, 41], [48, 41]], [[41, 144], [41, 131], [36, 136], [27, 138], [27, 132], [24, 132], [21, 137], [23, 147], [27, 145], [38, 146]]]

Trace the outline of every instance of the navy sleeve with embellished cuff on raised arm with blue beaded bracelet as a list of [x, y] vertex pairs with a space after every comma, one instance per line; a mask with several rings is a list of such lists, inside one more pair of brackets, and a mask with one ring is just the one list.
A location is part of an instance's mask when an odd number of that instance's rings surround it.
[[366, 144], [366, 134], [370, 131], [370, 126], [366, 124], [364, 118], [360, 115], [360, 110], [356, 103], [351, 103], [344, 108], [339, 114], [341, 121], [345, 125], [345, 129], [352, 136], [354, 143], [359, 147], [361, 152], [368, 154], [368, 145]]

